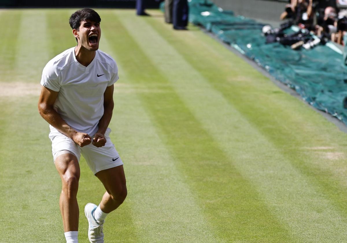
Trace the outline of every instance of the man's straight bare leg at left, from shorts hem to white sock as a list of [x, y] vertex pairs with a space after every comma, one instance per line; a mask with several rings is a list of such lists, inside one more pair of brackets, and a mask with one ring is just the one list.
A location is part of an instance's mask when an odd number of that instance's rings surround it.
[[66, 153], [58, 156], [55, 164], [62, 183], [59, 206], [64, 232], [78, 231], [77, 191], [80, 176], [78, 160], [73, 154]]

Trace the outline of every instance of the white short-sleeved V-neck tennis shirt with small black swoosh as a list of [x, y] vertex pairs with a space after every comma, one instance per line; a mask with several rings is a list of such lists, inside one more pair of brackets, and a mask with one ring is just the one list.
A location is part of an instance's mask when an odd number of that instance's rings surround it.
[[[104, 92], [117, 80], [118, 67], [111, 56], [97, 50], [93, 61], [83, 66], [75, 47], [50, 60], [44, 67], [41, 85], [59, 92], [54, 110], [78, 132], [93, 136], [104, 114]], [[50, 125], [51, 132], [58, 132]]]

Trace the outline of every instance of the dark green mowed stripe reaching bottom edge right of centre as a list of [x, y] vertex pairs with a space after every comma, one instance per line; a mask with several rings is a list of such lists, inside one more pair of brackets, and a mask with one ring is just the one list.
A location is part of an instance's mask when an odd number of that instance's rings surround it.
[[[122, 19], [121, 22], [126, 22], [130, 15], [124, 11], [117, 14]], [[128, 33], [119, 26], [118, 34], [123, 38], [117, 40], [117, 46], [121, 47], [124, 42], [129, 42], [128, 38], [125, 39]], [[150, 58], [142, 57], [143, 49], [136, 47], [135, 43], [132, 45], [134, 50], [124, 52], [123, 55], [119, 54], [121, 48], [118, 49], [118, 59], [127, 57], [122, 63], [131, 63], [138, 68], [138, 72], [132, 74], [132, 79], [142, 84], [144, 89], [159, 86], [169, 91], [143, 94], [143, 103], [151, 113], [153, 122], [161, 130], [163, 141], [177, 159], [176, 166], [185, 174], [187, 184], [191, 186], [205, 217], [214, 226], [212, 229], [215, 233], [226, 242], [288, 241], [287, 232], [271, 217], [252, 186], [240, 176], [232, 162], [192, 116], [172, 89], [167, 77], [162, 72], [159, 72], [159, 76], [149, 75], [155, 73], [152, 70], [157, 68], [151, 64]]]

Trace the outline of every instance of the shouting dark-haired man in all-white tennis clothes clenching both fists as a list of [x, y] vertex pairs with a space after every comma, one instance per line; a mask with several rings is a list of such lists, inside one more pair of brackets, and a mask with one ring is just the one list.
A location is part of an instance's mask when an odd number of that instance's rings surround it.
[[118, 80], [115, 60], [98, 50], [100, 16], [92, 9], [74, 12], [69, 23], [77, 46], [54, 57], [44, 67], [39, 99], [40, 115], [50, 124], [54, 164], [61, 177], [60, 211], [66, 242], [78, 242], [77, 204], [81, 153], [106, 192], [99, 204], [84, 212], [90, 242], [104, 242], [105, 217], [127, 195], [123, 162], [110, 140], [113, 84]]

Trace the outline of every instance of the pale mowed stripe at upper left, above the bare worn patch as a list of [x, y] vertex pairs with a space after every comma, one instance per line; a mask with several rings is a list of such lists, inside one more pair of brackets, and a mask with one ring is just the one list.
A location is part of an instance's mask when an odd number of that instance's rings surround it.
[[49, 60], [46, 11], [25, 9], [22, 12], [12, 78], [17, 82], [40, 83], [38, 74]]

